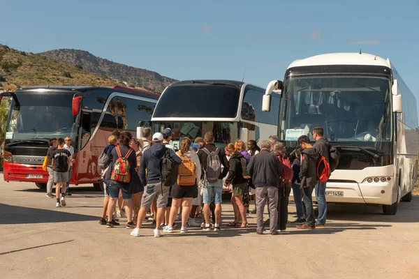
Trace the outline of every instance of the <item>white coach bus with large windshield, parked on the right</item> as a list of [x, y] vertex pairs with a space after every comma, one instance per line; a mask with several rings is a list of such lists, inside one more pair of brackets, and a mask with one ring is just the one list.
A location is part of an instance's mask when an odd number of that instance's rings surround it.
[[321, 126], [341, 153], [327, 202], [381, 204], [384, 214], [394, 215], [400, 200], [411, 201], [418, 176], [418, 110], [390, 60], [337, 53], [294, 61], [284, 83], [267, 86], [266, 111], [276, 88], [278, 135], [289, 151], [300, 135], [314, 140], [311, 131]]

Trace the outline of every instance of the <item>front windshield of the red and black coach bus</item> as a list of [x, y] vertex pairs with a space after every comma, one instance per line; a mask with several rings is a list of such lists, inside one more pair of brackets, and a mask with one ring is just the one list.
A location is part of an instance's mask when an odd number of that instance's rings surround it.
[[6, 130], [6, 144], [22, 140], [71, 136], [74, 116], [71, 110], [73, 94], [66, 92], [15, 93]]

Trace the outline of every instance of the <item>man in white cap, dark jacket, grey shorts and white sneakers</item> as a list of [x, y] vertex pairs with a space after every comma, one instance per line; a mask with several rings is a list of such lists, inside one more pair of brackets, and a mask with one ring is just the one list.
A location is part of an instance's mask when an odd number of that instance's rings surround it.
[[[169, 188], [161, 184], [161, 158], [169, 150], [170, 160], [174, 165], [182, 163], [182, 159], [172, 149], [163, 145], [163, 135], [155, 133], [152, 137], [153, 144], [143, 154], [140, 162], [140, 180], [146, 185], [141, 199], [141, 209], [138, 212], [137, 227], [131, 232], [131, 236], [140, 236], [140, 227], [144, 221], [147, 209], [150, 208], [154, 198], [157, 199], [156, 229], [154, 237], [161, 236], [160, 225], [164, 223], [164, 211], [168, 204]], [[146, 171], [147, 169], [147, 177]]]

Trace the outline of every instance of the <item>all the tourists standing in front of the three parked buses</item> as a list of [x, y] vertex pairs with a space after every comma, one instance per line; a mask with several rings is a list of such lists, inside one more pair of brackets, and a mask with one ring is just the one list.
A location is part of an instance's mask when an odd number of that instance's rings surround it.
[[[99, 159], [105, 188], [101, 225], [119, 226], [117, 218], [126, 217], [126, 228], [133, 229], [131, 236], [140, 236], [145, 220], [155, 224], [155, 237], [161, 236], [162, 231], [170, 234], [177, 229], [186, 233], [189, 227], [219, 231], [222, 194], [228, 191], [232, 193], [234, 211], [234, 220], [228, 226], [247, 228], [247, 214], [256, 213], [257, 234], [285, 232], [288, 223], [297, 225], [297, 229], [325, 227], [326, 182], [318, 181], [317, 169], [321, 156], [329, 160], [329, 143], [323, 137], [323, 128], [314, 128], [314, 145], [307, 135], [302, 135], [289, 156], [275, 135], [260, 146], [254, 140], [247, 144], [236, 140], [220, 148], [208, 132], [194, 142], [184, 137], [179, 150], [170, 145], [174, 135], [170, 128], [154, 135], [145, 128], [142, 135], [136, 139], [127, 131], [114, 131], [108, 139]], [[68, 195], [66, 184], [73, 160], [70, 141], [68, 137], [66, 144], [62, 138], [51, 139], [48, 150], [47, 197], [52, 196], [52, 184], [57, 183], [57, 207], [65, 206]], [[291, 190], [297, 219], [288, 222]], [[311, 199], [314, 190], [317, 220]], [[255, 208], [250, 211], [252, 199]], [[263, 219], [265, 204], [267, 220]], [[202, 217], [202, 223], [198, 217]]]

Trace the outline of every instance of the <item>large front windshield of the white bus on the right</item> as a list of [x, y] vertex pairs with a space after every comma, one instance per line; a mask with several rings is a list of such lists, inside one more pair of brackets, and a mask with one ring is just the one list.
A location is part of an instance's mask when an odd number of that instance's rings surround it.
[[331, 142], [374, 146], [390, 142], [390, 80], [366, 75], [291, 76], [281, 100], [281, 140], [295, 141], [320, 126]]

